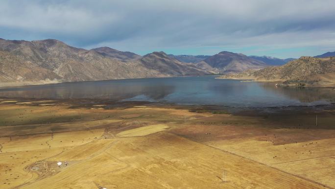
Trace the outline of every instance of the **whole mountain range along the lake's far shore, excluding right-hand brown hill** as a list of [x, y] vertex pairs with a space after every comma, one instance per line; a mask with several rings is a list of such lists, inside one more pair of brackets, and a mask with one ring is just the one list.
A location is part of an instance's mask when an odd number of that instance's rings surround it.
[[0, 85], [236, 74], [282, 65], [287, 61], [226, 51], [212, 56], [168, 55], [164, 52], [141, 56], [109, 47], [85, 50], [55, 39], [0, 39]]

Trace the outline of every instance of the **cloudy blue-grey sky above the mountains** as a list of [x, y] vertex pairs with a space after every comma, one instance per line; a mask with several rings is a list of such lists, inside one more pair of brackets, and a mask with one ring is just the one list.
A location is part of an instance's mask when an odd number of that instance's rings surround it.
[[0, 38], [148, 54], [335, 51], [335, 0], [1, 0]]

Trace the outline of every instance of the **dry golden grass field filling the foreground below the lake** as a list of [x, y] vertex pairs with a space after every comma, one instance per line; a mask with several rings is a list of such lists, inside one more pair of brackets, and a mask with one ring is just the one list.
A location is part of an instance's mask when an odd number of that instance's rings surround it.
[[5, 99], [0, 188], [333, 189], [334, 113], [313, 127], [305, 114]]

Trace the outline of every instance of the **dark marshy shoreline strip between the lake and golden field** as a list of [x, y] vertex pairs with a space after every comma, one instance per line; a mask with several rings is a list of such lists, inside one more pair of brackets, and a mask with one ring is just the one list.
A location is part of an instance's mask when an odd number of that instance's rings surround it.
[[[7, 102], [8, 101], [8, 102]], [[12, 102], [13, 101], [13, 102]], [[24, 105], [24, 106], [39, 106], [38, 102], [50, 102], [52, 104], [68, 104], [70, 108], [103, 108], [103, 109], [118, 109], [132, 108], [137, 106], [146, 107], [161, 107], [161, 108], [176, 108], [187, 109], [190, 112], [196, 113], [213, 113], [213, 114], [231, 114], [231, 115], [283, 115], [283, 114], [310, 114], [323, 113], [327, 111], [335, 111], [335, 103], [322, 105], [291, 105], [291, 106], [272, 106], [272, 107], [230, 107], [225, 105], [183, 105], [168, 102], [149, 102], [149, 101], [118, 101], [112, 99], [98, 98], [79, 98], [79, 99], [52, 99], [52, 98], [10, 98], [0, 97], [1, 105]], [[26, 102], [32, 102], [27, 103]], [[37, 103], [34, 103], [37, 102]], [[95, 105], [103, 105], [96, 107]]]

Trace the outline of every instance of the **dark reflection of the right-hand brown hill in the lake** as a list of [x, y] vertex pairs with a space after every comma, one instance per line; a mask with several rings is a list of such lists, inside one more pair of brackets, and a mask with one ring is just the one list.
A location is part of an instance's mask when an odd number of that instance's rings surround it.
[[335, 102], [335, 90], [332, 88], [288, 86], [276, 87], [274, 83], [260, 83], [260, 85], [266, 90], [281, 93], [291, 99], [297, 99], [304, 103], [311, 103], [321, 100]]

